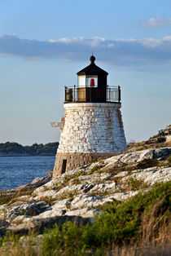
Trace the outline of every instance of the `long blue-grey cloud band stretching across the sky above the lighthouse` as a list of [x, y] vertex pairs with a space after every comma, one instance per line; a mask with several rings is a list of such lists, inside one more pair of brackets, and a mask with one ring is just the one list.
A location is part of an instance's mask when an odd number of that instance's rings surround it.
[[161, 63], [171, 60], [171, 36], [164, 38], [60, 38], [48, 41], [29, 40], [17, 35], [0, 37], [0, 55], [27, 58], [85, 60], [91, 54], [110, 64]]

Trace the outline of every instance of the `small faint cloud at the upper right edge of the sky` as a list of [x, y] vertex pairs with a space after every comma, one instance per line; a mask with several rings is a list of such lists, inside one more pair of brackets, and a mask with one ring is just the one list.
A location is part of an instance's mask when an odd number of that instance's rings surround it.
[[142, 23], [142, 27], [162, 27], [171, 25], [171, 19], [166, 19], [160, 16], [149, 18]]

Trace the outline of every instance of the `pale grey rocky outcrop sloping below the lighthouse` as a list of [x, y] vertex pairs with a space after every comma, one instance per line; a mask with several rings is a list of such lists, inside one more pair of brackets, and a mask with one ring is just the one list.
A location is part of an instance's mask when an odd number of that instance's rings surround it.
[[55, 179], [51, 179], [50, 171], [46, 178], [8, 191], [11, 201], [0, 205], [0, 236], [7, 230], [20, 234], [42, 232], [45, 227], [68, 220], [78, 225], [92, 223], [94, 215], [103, 214], [103, 205], [127, 200], [155, 183], [171, 180], [170, 155], [171, 148], [126, 152]]

